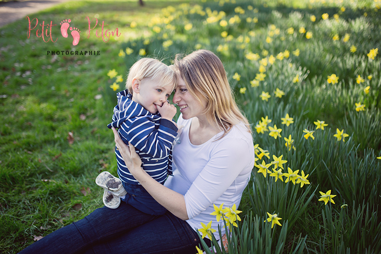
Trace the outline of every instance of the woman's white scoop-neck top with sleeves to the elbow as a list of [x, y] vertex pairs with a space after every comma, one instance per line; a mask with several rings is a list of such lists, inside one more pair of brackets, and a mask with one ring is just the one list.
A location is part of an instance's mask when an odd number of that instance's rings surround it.
[[254, 166], [254, 147], [251, 134], [243, 124], [233, 129], [222, 139], [223, 132], [201, 145], [189, 141], [189, 126], [192, 119], [179, 116], [177, 125], [184, 125], [177, 143], [173, 147], [173, 177], [168, 177], [165, 186], [184, 195], [187, 223], [197, 231], [201, 222], [207, 225], [212, 220], [218, 240], [218, 224], [225, 234], [224, 222], [217, 223], [213, 204], [224, 207], [237, 206], [247, 186]]

